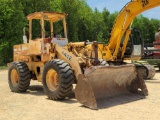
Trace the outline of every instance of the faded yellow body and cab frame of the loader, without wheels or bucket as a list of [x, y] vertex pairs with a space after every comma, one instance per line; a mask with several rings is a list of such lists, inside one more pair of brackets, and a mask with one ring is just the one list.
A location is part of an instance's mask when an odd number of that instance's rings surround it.
[[[56, 38], [56, 41], [63, 43], [67, 40], [67, 28], [65, 17], [67, 14], [57, 12], [36, 12], [27, 16], [29, 20], [29, 41], [25, 44], [14, 45], [13, 61], [25, 62], [28, 65], [29, 70], [35, 77], [32, 79], [42, 81], [42, 72], [46, 62], [53, 59], [61, 59], [70, 64], [74, 70], [75, 76], [81, 74], [78, 59], [71, 52], [67, 50], [67, 47], [60, 47], [58, 43], [53, 41], [53, 23], [61, 20], [63, 22], [64, 37]], [[41, 38], [32, 39], [32, 20], [40, 20], [41, 23]], [[50, 22], [51, 35], [49, 38], [45, 38], [44, 21]], [[72, 60], [69, 60], [63, 53], [69, 55]], [[8, 64], [9, 65], [9, 64]]]

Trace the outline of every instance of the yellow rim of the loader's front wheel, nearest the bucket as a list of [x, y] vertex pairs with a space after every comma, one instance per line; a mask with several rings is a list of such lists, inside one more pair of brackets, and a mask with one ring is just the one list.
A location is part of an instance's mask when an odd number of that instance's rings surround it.
[[46, 83], [50, 91], [55, 91], [58, 87], [58, 74], [55, 70], [51, 69], [47, 72]]

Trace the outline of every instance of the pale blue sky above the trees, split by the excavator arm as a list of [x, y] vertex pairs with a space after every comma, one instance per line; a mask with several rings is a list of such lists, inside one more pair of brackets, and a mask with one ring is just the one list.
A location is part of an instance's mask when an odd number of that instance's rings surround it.
[[[115, 11], [119, 12], [130, 1], [131, 0], [87, 0], [87, 4], [93, 10], [96, 7], [99, 11], [103, 11], [103, 8], [106, 7], [110, 13], [113, 13]], [[143, 12], [142, 15], [149, 19], [155, 18], [160, 20], [160, 6], [147, 10]]]

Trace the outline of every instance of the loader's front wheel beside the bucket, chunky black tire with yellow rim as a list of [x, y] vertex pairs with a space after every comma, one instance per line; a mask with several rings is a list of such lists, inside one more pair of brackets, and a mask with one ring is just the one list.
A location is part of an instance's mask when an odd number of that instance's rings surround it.
[[61, 100], [72, 91], [75, 77], [70, 66], [62, 60], [54, 59], [44, 66], [42, 83], [49, 99]]

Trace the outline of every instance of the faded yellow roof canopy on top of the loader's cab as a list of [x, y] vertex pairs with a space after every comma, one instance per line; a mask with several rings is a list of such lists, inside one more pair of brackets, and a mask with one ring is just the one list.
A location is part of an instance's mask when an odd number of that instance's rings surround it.
[[65, 13], [58, 13], [58, 12], [35, 12], [31, 13], [27, 16], [28, 20], [32, 19], [41, 19], [44, 16], [44, 20], [49, 20], [52, 22], [61, 20], [67, 16]]

